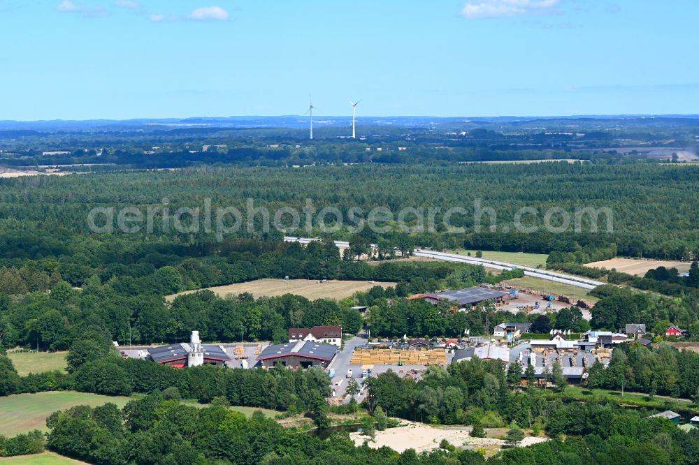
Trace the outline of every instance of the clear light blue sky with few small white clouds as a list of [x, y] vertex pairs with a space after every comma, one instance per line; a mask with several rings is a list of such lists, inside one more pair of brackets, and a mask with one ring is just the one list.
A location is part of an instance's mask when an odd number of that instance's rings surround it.
[[0, 0], [0, 119], [699, 113], [699, 1]]

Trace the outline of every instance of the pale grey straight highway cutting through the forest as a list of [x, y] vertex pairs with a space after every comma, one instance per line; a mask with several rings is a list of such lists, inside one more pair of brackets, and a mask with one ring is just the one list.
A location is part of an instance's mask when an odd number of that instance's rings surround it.
[[[284, 237], [287, 242], [300, 242], [301, 244], [308, 244], [311, 241], [318, 239], [310, 239], [308, 237]], [[349, 247], [349, 242], [345, 241], [335, 241], [335, 245], [342, 248]], [[447, 262], [461, 262], [470, 263], [470, 265], [483, 265], [487, 268], [492, 268], [493, 270], [512, 270], [512, 268], [519, 268], [524, 271], [524, 276], [531, 276], [533, 278], [545, 279], [546, 281], [552, 281], [554, 283], [563, 283], [570, 286], [575, 286], [582, 289], [594, 289], [597, 286], [601, 286], [604, 283], [601, 281], [594, 281], [593, 279], [587, 279], [580, 276], [572, 276], [570, 274], [563, 274], [559, 272], [552, 272], [549, 270], [539, 270], [538, 268], [524, 267], [517, 265], [515, 263], [500, 262], [498, 260], [486, 260], [484, 258], [475, 258], [459, 255], [459, 253], [445, 253], [445, 252], [435, 252], [427, 251], [423, 249], [415, 249], [413, 255], [416, 257], [433, 258], [434, 260], [445, 260]]]

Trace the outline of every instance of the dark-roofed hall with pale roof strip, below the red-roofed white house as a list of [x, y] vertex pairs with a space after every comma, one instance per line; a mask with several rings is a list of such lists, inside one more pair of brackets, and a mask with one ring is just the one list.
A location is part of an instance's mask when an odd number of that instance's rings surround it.
[[295, 341], [288, 344], [267, 346], [257, 357], [262, 367], [272, 368], [276, 364], [289, 368], [326, 368], [338, 353], [338, 346], [311, 341]]

